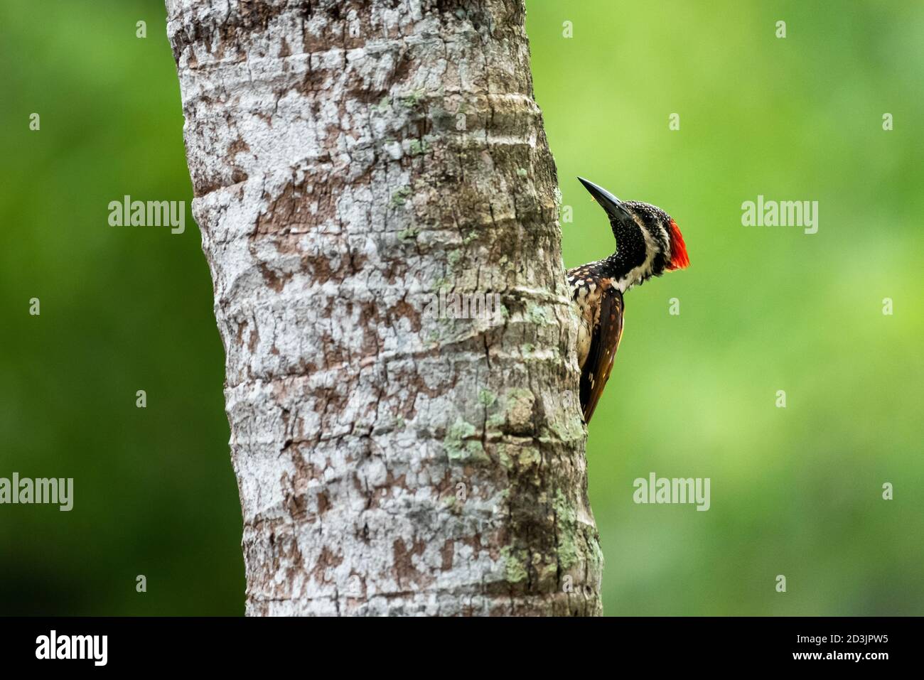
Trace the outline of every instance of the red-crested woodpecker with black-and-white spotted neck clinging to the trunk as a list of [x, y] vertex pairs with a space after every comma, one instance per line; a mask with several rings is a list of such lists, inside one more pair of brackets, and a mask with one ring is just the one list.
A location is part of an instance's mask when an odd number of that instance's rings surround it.
[[610, 257], [567, 272], [579, 320], [580, 405], [584, 421], [590, 422], [623, 336], [623, 294], [652, 276], [684, 269], [690, 261], [677, 223], [661, 208], [619, 200], [593, 182], [577, 179], [606, 212], [616, 238]]

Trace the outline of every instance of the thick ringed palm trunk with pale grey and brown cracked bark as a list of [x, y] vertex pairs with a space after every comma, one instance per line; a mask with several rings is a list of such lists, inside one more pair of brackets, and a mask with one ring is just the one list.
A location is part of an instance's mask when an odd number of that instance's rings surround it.
[[521, 0], [166, 5], [246, 612], [600, 613]]

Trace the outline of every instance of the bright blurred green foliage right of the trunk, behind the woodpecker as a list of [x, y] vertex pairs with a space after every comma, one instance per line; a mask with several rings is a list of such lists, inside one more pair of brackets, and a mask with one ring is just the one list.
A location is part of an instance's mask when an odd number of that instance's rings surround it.
[[[924, 613], [924, 6], [527, 6], [536, 98], [574, 208], [567, 266], [613, 251], [577, 175], [670, 212], [692, 262], [626, 295], [590, 424], [604, 611]], [[818, 200], [818, 234], [742, 226], [758, 194]], [[711, 509], [634, 504], [633, 480], [652, 470], [710, 477]]]

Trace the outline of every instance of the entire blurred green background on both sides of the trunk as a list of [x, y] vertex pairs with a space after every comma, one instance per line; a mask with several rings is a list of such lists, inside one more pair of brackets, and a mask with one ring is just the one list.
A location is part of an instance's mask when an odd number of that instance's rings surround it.
[[[527, 6], [566, 265], [614, 245], [577, 175], [670, 212], [692, 261], [626, 296], [590, 427], [605, 612], [924, 613], [924, 5]], [[79, 508], [0, 507], [0, 613], [242, 613], [198, 230], [106, 225], [191, 200], [163, 3], [5, 0], [0, 71], [0, 476], [74, 477]], [[818, 200], [819, 232], [742, 226], [758, 194]], [[634, 504], [651, 471], [711, 478], [711, 509]]]

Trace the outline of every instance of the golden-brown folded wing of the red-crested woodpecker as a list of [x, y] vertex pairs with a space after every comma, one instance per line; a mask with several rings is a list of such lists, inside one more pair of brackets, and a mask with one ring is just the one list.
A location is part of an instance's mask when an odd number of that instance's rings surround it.
[[616, 349], [623, 336], [623, 294], [611, 279], [602, 279], [599, 290], [600, 313], [590, 331], [590, 352], [580, 375], [580, 404], [584, 422], [588, 423], [610, 379]]

